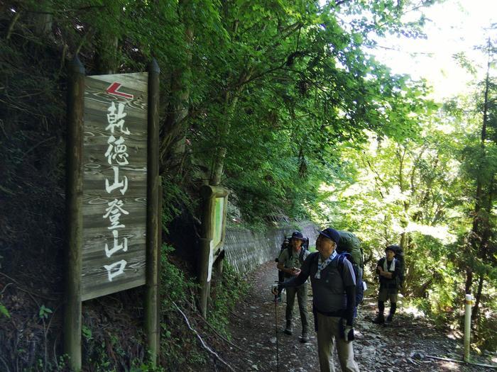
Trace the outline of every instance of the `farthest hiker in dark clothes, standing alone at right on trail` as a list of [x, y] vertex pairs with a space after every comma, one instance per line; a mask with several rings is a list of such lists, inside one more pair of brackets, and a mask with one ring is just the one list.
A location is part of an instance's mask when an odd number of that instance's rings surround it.
[[385, 322], [385, 302], [390, 300], [390, 313], [387, 322], [393, 320], [397, 310], [398, 278], [400, 275], [400, 264], [395, 259], [395, 251], [398, 246], [389, 245], [385, 249], [386, 257], [381, 258], [376, 265], [376, 274], [380, 277], [380, 289], [378, 292], [378, 315], [373, 320], [376, 324]]

